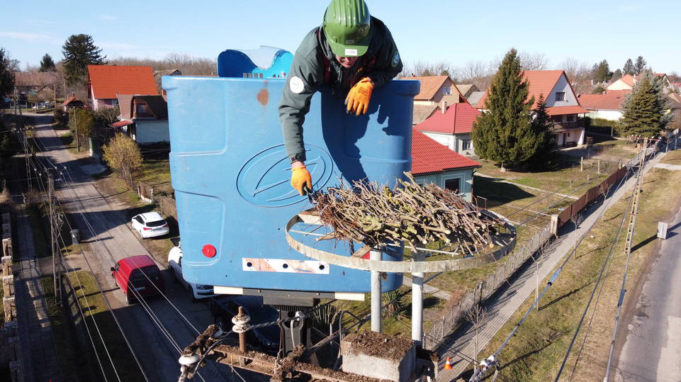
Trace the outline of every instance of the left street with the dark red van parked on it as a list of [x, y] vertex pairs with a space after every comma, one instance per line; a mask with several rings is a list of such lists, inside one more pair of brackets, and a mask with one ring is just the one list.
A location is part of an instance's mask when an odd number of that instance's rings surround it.
[[[149, 252], [128, 227], [126, 206], [113, 198], [104, 198], [89, 176], [81, 172], [81, 165], [89, 164], [89, 159], [74, 157], [64, 149], [50, 125], [41, 125], [50, 121], [51, 116], [36, 118], [35, 137], [45, 147], [45, 157], [60, 170], [59, 179], [55, 176], [57, 197], [74, 216], [81, 232], [81, 242], [89, 245], [87, 259], [104, 295], [141, 360], [147, 377], [151, 381], [176, 381], [179, 376], [179, 349], [193, 342], [196, 335], [212, 323], [210, 313], [205, 304], [191, 303], [188, 293], [169, 281], [167, 271], [163, 273], [167, 279], [166, 296], [169, 300], [150, 299], [148, 307], [126, 305], [123, 293], [113, 283], [109, 268], [123, 257]], [[66, 257], [67, 261], [70, 258]], [[89, 270], [83, 266], [82, 257], [69, 262], [69, 267]], [[159, 264], [159, 267], [166, 268], [165, 264]], [[232, 371], [221, 364], [209, 362], [200, 373], [205, 381], [232, 381]], [[239, 378], [236, 380], [240, 381]]]

